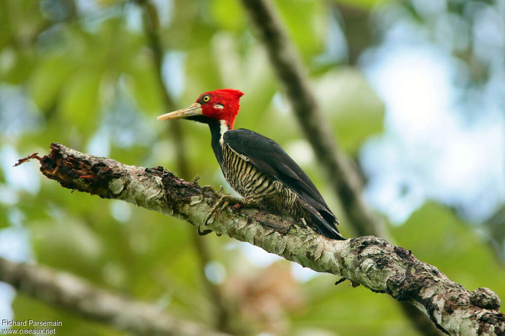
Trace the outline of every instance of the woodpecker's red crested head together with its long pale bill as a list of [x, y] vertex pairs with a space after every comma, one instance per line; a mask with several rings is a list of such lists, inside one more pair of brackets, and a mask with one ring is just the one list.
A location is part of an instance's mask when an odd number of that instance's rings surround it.
[[[159, 120], [189, 119], [208, 123], [209, 118], [225, 121], [228, 129], [233, 129], [240, 109], [239, 100], [244, 93], [233, 89], [220, 89], [206, 92], [189, 107], [159, 116]], [[207, 117], [207, 118], [203, 118]]]

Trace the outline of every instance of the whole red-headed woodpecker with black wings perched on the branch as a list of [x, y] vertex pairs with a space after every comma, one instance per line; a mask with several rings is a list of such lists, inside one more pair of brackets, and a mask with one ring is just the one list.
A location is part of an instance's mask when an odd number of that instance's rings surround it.
[[242, 95], [233, 89], [205, 92], [189, 107], [158, 120], [188, 119], [209, 125], [212, 149], [223, 175], [243, 197], [244, 205], [287, 213], [301, 226], [309, 225], [328, 238], [345, 240], [321, 193], [277, 142], [250, 130], [233, 129]]

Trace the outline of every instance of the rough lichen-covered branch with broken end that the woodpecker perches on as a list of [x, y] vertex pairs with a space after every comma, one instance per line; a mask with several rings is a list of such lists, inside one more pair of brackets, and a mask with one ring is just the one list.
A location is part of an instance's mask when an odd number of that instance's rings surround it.
[[[103, 198], [121, 199], [162, 212], [192, 225], [204, 220], [219, 194], [185, 182], [162, 167], [125, 165], [51, 145], [40, 158], [40, 171], [62, 186]], [[319, 272], [350, 279], [373, 292], [407, 301], [426, 313], [437, 327], [452, 335], [500, 335], [505, 315], [499, 298], [488, 289], [470, 292], [452, 282], [435, 266], [381, 238], [366, 236], [331, 240], [289, 218], [258, 209], [225, 207], [209, 220], [207, 229], [249, 242]]]

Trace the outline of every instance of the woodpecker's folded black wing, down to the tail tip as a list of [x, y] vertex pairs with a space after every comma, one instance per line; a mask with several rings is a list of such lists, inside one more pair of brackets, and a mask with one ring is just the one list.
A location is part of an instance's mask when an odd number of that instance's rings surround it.
[[314, 216], [319, 233], [328, 238], [344, 239], [335, 225], [338, 220], [323, 196], [300, 166], [272, 139], [246, 129], [229, 130], [223, 141], [246, 156], [258, 170], [277, 179], [298, 195], [300, 202]]

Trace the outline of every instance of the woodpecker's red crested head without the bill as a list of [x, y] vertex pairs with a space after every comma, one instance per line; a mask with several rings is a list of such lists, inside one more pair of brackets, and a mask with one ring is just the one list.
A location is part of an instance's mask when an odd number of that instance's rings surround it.
[[240, 109], [239, 100], [244, 93], [233, 89], [220, 89], [203, 93], [196, 99], [201, 105], [202, 115], [216, 120], [225, 120], [233, 129]]

